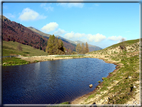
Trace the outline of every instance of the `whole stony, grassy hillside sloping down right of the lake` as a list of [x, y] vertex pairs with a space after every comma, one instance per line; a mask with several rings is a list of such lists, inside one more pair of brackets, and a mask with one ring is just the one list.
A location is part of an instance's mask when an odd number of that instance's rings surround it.
[[[119, 65], [109, 77], [103, 78], [96, 91], [79, 104], [138, 104], [139, 89], [139, 39], [125, 41], [126, 51], [120, 49], [122, 43], [103, 50], [89, 52], [92, 58], [101, 58]], [[101, 80], [100, 80], [101, 81]]]

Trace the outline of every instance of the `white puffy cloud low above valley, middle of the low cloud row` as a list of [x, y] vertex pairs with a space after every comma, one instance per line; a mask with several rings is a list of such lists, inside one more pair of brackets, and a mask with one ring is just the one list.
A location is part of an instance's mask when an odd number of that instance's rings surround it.
[[90, 42], [93, 42], [93, 41], [100, 42], [100, 41], [106, 39], [106, 36], [97, 33], [96, 35], [88, 34], [87, 38]]

